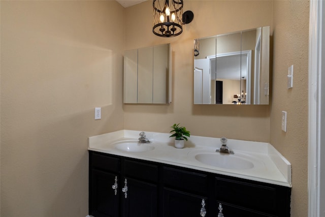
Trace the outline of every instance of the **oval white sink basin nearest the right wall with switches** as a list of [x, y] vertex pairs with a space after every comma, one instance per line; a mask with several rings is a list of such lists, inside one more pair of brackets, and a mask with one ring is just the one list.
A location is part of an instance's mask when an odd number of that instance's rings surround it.
[[195, 159], [203, 164], [225, 169], [246, 170], [254, 167], [249, 160], [236, 157], [234, 154], [199, 153]]

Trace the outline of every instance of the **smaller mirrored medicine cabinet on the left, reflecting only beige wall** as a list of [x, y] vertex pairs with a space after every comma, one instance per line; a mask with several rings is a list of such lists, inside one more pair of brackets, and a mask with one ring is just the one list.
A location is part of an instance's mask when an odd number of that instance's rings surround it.
[[124, 103], [171, 103], [170, 44], [124, 52]]

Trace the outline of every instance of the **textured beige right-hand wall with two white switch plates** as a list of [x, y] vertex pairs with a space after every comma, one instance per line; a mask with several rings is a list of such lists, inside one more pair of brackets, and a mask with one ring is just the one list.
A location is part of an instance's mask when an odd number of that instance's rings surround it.
[[[291, 216], [308, 216], [308, 1], [274, 1], [271, 144], [292, 164]], [[287, 89], [288, 67], [294, 65], [294, 87]], [[281, 131], [287, 111], [287, 132]]]

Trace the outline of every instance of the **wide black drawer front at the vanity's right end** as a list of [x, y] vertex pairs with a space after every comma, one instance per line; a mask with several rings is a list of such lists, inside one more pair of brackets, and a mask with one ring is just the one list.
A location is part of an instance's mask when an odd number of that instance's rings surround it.
[[[215, 178], [215, 197], [220, 203], [229, 203], [239, 207], [261, 211], [264, 213], [286, 216], [290, 207], [285, 207], [290, 200], [290, 190], [276, 185]], [[279, 210], [282, 213], [279, 214]]]

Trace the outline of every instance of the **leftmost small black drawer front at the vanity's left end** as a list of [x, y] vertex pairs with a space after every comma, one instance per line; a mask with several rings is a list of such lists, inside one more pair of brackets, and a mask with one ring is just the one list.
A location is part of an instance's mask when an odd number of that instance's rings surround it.
[[119, 172], [120, 159], [107, 154], [90, 152], [90, 163], [93, 169]]

